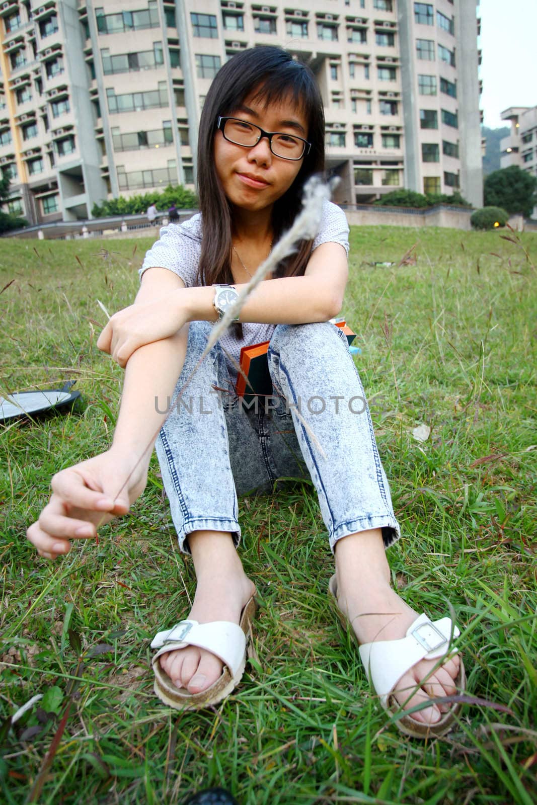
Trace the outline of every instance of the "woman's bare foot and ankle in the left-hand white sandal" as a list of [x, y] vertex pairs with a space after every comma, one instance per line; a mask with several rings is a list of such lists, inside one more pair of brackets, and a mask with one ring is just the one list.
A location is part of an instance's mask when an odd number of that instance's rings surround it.
[[[210, 532], [195, 532], [209, 534]], [[194, 564], [196, 566], [196, 595], [188, 619], [199, 623], [210, 621], [231, 621], [239, 623], [242, 609], [255, 594], [254, 583], [246, 576], [242, 569], [240, 559], [232, 545], [229, 551], [229, 542], [222, 535], [217, 550], [219, 561], [205, 561], [200, 568], [196, 563], [196, 540], [189, 535], [188, 542], [191, 547]], [[209, 541], [205, 540], [209, 546]], [[208, 547], [204, 560], [210, 559], [211, 551]], [[184, 687], [189, 693], [201, 693], [207, 690], [219, 679], [222, 673], [222, 661], [205, 649], [196, 646], [168, 651], [159, 657], [160, 666], [167, 673], [176, 687]]]

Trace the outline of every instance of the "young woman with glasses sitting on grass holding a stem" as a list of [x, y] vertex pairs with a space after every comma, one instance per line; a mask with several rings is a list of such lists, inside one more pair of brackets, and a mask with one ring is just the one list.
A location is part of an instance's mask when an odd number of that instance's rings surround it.
[[[441, 734], [456, 707], [431, 698], [464, 687], [451, 644], [458, 630], [448, 618], [418, 616], [390, 587], [385, 551], [399, 525], [370, 412], [356, 403], [365, 394], [346, 336], [329, 321], [341, 311], [348, 274], [340, 208], [324, 202], [316, 238], [299, 242], [255, 287], [175, 404], [213, 323], [291, 227], [306, 180], [323, 172], [323, 103], [312, 72], [278, 47], [229, 60], [200, 119], [200, 213], [161, 229], [134, 304], [112, 316], [97, 342], [126, 369], [113, 444], [52, 478], [50, 502], [27, 535], [55, 559], [71, 539], [91, 538], [97, 525], [126, 514], [145, 488], [158, 433], [197, 588], [188, 619], [163, 624], [151, 644], [155, 691], [172, 707], [202, 707], [241, 679], [254, 616], [254, 583], [237, 552], [237, 496], [273, 493], [279, 477], [311, 477], [335, 555], [328, 593], [382, 704], [392, 712], [422, 705], [395, 723], [415, 736]], [[242, 346], [269, 340], [275, 404], [256, 411], [235, 393], [236, 362]]]

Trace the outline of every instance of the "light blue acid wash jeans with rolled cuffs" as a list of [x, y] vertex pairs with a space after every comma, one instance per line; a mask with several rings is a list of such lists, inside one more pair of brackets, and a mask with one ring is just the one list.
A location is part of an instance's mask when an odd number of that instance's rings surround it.
[[[399, 539], [366, 394], [345, 334], [331, 322], [278, 324], [268, 351], [271, 397], [238, 398], [217, 342], [177, 403], [213, 324], [192, 321], [184, 366], [155, 449], [180, 550], [194, 530], [229, 531], [237, 546], [238, 495], [272, 493], [281, 477], [311, 478], [334, 551], [338, 539], [382, 529]], [[313, 435], [312, 435], [313, 434]]]

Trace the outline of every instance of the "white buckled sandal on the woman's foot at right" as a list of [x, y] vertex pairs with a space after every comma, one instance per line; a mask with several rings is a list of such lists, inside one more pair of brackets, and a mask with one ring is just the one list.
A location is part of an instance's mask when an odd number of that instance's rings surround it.
[[[438, 621], [431, 621], [422, 613], [408, 627], [407, 634], [399, 640], [378, 640], [360, 645], [348, 617], [337, 604], [336, 576], [332, 576], [328, 584], [328, 592], [333, 596], [337, 609], [337, 616], [341, 625], [350, 629], [354, 641], [357, 643], [361, 662], [370, 678], [370, 683], [378, 694], [382, 707], [390, 715], [400, 714], [401, 705], [392, 696], [392, 691], [399, 679], [410, 671], [421, 659], [439, 659], [446, 654], [456, 654], [458, 649], [451, 645], [452, 638], [457, 638], [461, 632], [456, 625], [452, 626], [449, 617], [442, 617]], [[461, 659], [459, 673], [454, 680], [457, 691], [464, 691], [466, 684], [465, 666]], [[408, 696], [411, 691], [408, 691]], [[401, 716], [394, 721], [394, 725], [406, 735], [415, 738], [445, 735], [452, 729], [455, 716], [461, 709], [457, 702], [444, 713], [436, 724], [423, 724], [410, 715]]]

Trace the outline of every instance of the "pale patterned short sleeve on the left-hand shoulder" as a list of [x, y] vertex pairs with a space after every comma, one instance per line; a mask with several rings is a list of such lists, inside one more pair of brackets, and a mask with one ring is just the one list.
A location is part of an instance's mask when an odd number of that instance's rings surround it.
[[200, 242], [181, 231], [181, 226], [169, 224], [159, 232], [159, 240], [146, 252], [142, 268], [138, 270], [140, 282], [148, 268], [160, 266], [179, 276], [186, 287], [199, 285]]

